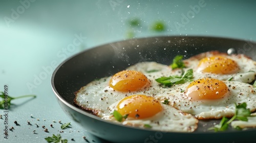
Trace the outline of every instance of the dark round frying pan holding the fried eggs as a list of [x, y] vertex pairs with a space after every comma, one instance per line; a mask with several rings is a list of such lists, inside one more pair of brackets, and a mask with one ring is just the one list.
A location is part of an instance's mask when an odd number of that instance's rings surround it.
[[[51, 84], [56, 99], [69, 117], [85, 130], [111, 142], [255, 142], [256, 129], [225, 132], [208, 131], [219, 120], [200, 121], [193, 133], [162, 132], [127, 127], [90, 114], [73, 104], [74, 92], [97, 78], [111, 76], [143, 61], [172, 63], [176, 55], [189, 58], [196, 54], [230, 50], [256, 60], [256, 43], [251, 41], [200, 36], [163, 36], [130, 39], [100, 45], [63, 61], [53, 72]], [[256, 103], [255, 103], [256, 104]], [[253, 140], [254, 138], [254, 140]]]

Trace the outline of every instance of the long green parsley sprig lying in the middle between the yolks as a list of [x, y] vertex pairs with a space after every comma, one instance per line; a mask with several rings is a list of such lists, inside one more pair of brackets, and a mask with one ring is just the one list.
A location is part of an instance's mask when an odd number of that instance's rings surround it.
[[183, 84], [185, 82], [193, 81], [193, 70], [188, 69], [185, 73], [182, 73], [181, 76], [169, 76], [161, 77], [156, 79], [157, 82], [161, 83], [164, 86], [170, 87], [174, 84]]

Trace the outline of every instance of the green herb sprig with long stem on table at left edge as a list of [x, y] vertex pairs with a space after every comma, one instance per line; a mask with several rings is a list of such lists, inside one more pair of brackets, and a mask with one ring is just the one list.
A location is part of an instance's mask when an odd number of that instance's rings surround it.
[[27, 97], [32, 97], [35, 98], [35, 95], [26, 95], [26, 96], [19, 96], [19, 97], [10, 97], [9, 95], [6, 95], [4, 92], [0, 92], [0, 98], [3, 100], [0, 102], [0, 109], [8, 109], [11, 105], [11, 101], [14, 99], [20, 99], [20, 98], [27, 98]]

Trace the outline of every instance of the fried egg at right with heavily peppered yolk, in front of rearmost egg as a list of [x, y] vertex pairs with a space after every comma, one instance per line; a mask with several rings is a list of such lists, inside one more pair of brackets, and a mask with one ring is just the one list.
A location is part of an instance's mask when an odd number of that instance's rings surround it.
[[[247, 103], [247, 108], [256, 110], [256, 94], [252, 85], [237, 81], [220, 81], [203, 78], [191, 83], [175, 85], [165, 92], [161, 100], [199, 120], [231, 117], [235, 103]], [[162, 97], [161, 97], [162, 98]]]

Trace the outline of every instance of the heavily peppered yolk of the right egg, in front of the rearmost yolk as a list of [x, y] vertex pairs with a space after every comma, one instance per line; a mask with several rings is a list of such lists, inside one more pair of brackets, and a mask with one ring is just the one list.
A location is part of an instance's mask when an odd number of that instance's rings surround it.
[[204, 78], [191, 82], [185, 94], [194, 100], [213, 100], [223, 98], [228, 92], [227, 85], [217, 79]]

